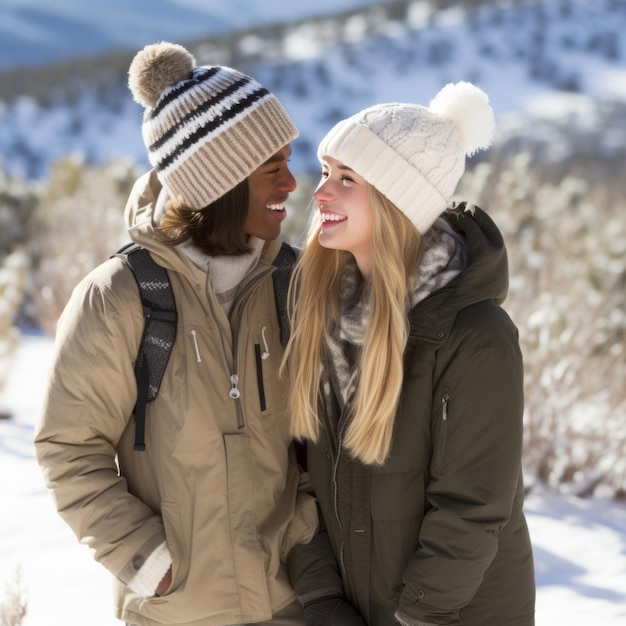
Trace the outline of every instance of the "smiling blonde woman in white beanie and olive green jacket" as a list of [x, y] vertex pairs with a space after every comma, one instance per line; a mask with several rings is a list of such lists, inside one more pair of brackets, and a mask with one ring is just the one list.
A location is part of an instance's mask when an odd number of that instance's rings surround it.
[[534, 623], [506, 251], [479, 208], [447, 207], [493, 126], [457, 83], [319, 146], [286, 356], [325, 523], [289, 557], [307, 624]]

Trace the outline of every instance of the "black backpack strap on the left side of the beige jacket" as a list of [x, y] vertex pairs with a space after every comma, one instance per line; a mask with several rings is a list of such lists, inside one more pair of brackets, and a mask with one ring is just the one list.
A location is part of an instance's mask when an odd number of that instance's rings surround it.
[[114, 256], [124, 259], [132, 270], [145, 317], [135, 361], [137, 400], [133, 411], [134, 449], [145, 450], [146, 405], [156, 398], [159, 391], [176, 339], [178, 315], [167, 270], [158, 265], [146, 249], [130, 243]]

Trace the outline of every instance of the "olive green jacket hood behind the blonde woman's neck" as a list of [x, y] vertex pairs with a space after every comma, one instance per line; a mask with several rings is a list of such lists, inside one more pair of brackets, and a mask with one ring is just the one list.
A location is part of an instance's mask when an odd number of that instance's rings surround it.
[[467, 266], [410, 311], [409, 341], [441, 342], [461, 309], [484, 300], [501, 304], [508, 293], [508, 256], [493, 220], [482, 209], [465, 202], [453, 205], [442, 218], [463, 239]]

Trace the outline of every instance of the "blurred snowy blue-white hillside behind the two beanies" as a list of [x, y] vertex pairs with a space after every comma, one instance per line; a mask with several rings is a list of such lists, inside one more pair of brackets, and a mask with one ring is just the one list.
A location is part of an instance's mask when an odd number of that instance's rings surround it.
[[[199, 63], [234, 64], [281, 98], [301, 131], [296, 173], [317, 170], [314, 148], [338, 118], [380, 101], [428, 104], [457, 80], [489, 94], [500, 140], [545, 141], [546, 158], [589, 149], [581, 134], [595, 150], [624, 151], [626, 127], [610, 111], [626, 103], [626, 0], [487, 2], [475, 11], [463, 8], [475, 3], [433, 11], [420, 0], [399, 12], [399, 4], [190, 47]], [[94, 63], [84, 84], [55, 76], [45, 101], [0, 103], [9, 173], [40, 178], [69, 153], [145, 163], [142, 111], [125, 84], [130, 58], [115, 68]]]

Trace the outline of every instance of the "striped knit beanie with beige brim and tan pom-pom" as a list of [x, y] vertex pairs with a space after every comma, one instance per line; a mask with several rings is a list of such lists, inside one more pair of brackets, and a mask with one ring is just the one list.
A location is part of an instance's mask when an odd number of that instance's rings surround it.
[[196, 67], [182, 46], [161, 42], [133, 59], [128, 86], [145, 107], [143, 140], [171, 198], [202, 209], [298, 136], [276, 96], [225, 66]]

